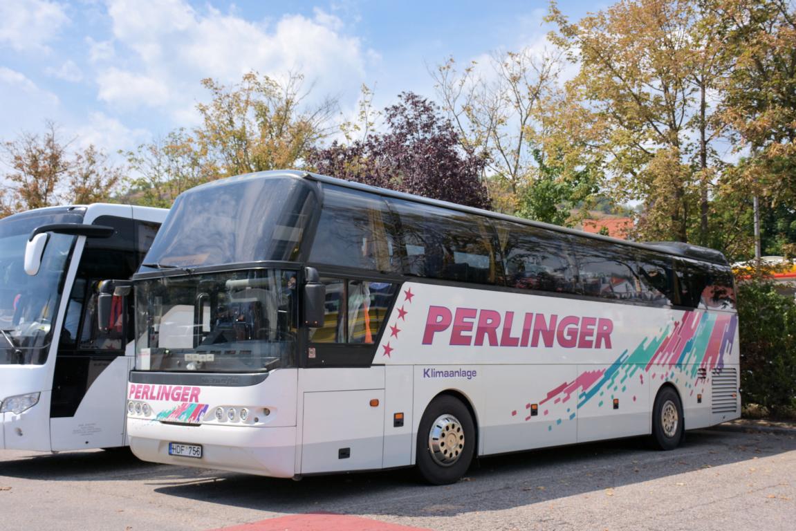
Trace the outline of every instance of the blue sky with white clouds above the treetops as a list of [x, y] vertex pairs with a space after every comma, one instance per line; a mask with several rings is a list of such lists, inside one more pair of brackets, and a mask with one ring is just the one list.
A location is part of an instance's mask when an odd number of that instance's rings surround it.
[[[560, 0], [572, 20], [595, 2]], [[353, 115], [400, 92], [433, 98], [429, 68], [544, 48], [542, 0], [0, 0], [0, 141], [57, 124], [108, 153], [197, 125], [200, 80], [301, 72], [312, 97]]]

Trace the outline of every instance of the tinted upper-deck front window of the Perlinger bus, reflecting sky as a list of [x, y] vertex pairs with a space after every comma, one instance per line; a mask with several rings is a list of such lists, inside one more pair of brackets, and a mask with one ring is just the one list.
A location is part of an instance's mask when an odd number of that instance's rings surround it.
[[316, 209], [314, 188], [257, 174], [182, 193], [146, 255], [147, 264], [211, 266], [298, 260]]

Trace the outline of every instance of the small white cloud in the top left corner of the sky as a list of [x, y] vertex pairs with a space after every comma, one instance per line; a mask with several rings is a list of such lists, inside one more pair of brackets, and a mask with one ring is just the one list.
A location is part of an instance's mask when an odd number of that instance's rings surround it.
[[64, 6], [47, 0], [0, 2], [0, 45], [19, 52], [49, 52], [61, 27], [69, 22]]

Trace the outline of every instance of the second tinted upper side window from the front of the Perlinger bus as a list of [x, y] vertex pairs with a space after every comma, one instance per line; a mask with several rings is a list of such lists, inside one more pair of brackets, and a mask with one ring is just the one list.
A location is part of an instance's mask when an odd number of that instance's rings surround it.
[[489, 220], [390, 200], [400, 219], [404, 273], [470, 283], [494, 283], [494, 232]]

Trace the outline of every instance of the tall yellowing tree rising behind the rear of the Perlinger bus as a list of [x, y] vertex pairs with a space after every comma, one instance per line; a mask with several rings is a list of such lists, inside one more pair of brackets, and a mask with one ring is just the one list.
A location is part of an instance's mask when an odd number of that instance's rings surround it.
[[552, 35], [579, 64], [572, 81], [604, 132], [619, 201], [644, 201], [650, 239], [708, 240], [724, 137], [710, 95], [729, 68], [712, 2], [624, 0], [576, 24], [553, 3]]

